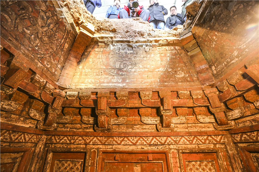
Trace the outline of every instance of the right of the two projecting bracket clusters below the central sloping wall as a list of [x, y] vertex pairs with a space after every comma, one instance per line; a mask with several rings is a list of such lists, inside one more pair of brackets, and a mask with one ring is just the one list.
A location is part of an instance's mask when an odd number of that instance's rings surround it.
[[[203, 92], [202, 92], [203, 93]], [[178, 97], [180, 99], [178, 99]], [[141, 103], [147, 107], [158, 107], [158, 118], [150, 118], [148, 117], [150, 110], [149, 108], [141, 108], [140, 116], [143, 123], [157, 124], [157, 122], [161, 123], [161, 127], [170, 128], [171, 124], [182, 124], [186, 122], [186, 116], [188, 114], [188, 108], [179, 106], [186, 106], [190, 104], [194, 104], [192, 99], [190, 98], [190, 91], [159, 91], [159, 98], [152, 100], [152, 92], [151, 91], [140, 91]], [[203, 97], [197, 97], [197, 99], [206, 99], [204, 93]], [[191, 103], [190, 101], [191, 100]], [[203, 104], [209, 105], [208, 101]], [[197, 105], [196, 105], [197, 106]], [[176, 108], [176, 113], [178, 117], [172, 117], [172, 109]]]

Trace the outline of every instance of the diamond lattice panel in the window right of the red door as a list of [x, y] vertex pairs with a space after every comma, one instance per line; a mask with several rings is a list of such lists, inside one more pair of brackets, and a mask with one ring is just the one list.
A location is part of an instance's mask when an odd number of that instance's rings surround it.
[[216, 172], [214, 161], [186, 161], [188, 172]]

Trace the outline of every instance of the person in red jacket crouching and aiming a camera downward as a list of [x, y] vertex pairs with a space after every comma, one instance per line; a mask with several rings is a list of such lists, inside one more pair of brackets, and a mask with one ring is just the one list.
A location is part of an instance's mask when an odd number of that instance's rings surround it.
[[148, 21], [150, 18], [149, 11], [147, 9], [144, 9], [143, 5], [138, 5], [138, 7], [134, 8], [132, 5], [133, 3], [138, 3], [138, 0], [129, 0], [128, 6], [125, 6], [123, 9], [120, 10], [118, 18], [127, 19], [133, 17], [140, 17], [144, 21]]

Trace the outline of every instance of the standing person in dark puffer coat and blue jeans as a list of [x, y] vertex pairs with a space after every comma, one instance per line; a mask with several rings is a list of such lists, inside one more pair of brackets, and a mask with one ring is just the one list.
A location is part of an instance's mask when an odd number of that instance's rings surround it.
[[167, 9], [163, 5], [159, 5], [157, 0], [150, 0], [150, 6], [148, 10], [150, 11], [149, 23], [153, 28], [164, 29], [165, 19], [164, 15], [167, 15]]

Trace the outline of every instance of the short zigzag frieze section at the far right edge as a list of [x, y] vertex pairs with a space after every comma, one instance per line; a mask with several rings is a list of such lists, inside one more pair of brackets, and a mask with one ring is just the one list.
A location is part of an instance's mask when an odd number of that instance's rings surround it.
[[231, 134], [233, 142], [259, 142], [259, 131]]

